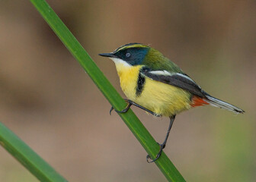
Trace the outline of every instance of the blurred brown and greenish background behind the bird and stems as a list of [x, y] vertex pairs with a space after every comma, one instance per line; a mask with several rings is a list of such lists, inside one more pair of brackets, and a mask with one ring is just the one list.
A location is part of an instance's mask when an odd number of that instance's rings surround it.
[[[243, 108], [178, 115], [165, 152], [187, 181], [256, 178], [256, 2], [48, 1], [122, 93], [98, 53], [152, 45], [208, 93]], [[0, 120], [70, 181], [165, 181], [29, 1], [0, 2]], [[162, 142], [168, 118], [133, 108]], [[0, 181], [37, 181], [0, 147]]]

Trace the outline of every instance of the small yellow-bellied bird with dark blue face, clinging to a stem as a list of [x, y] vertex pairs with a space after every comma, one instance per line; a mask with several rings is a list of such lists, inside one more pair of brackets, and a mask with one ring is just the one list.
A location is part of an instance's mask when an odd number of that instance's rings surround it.
[[[161, 156], [175, 116], [181, 111], [201, 105], [212, 105], [237, 114], [245, 112], [235, 105], [210, 96], [177, 64], [149, 45], [128, 43], [114, 52], [99, 55], [114, 61], [121, 89], [127, 97], [125, 100], [128, 105], [117, 112], [125, 113], [131, 105], [135, 105], [152, 115], [170, 118], [165, 140], [162, 144], [158, 143], [158, 154], [155, 158], [146, 156], [149, 163], [155, 162]], [[110, 114], [113, 109], [110, 109]]]

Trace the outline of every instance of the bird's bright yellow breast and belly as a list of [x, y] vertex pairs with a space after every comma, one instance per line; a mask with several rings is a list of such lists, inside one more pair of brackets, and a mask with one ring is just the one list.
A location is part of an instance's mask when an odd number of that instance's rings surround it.
[[144, 89], [140, 96], [136, 96], [139, 69], [142, 66], [127, 67], [117, 64], [120, 85], [126, 97], [157, 115], [171, 116], [191, 108], [190, 93], [176, 86], [151, 80], [146, 77]]

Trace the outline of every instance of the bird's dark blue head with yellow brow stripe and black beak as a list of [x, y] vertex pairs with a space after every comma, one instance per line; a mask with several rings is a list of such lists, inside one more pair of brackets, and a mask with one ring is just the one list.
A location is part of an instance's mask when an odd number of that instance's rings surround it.
[[112, 59], [116, 64], [123, 63], [131, 66], [143, 64], [150, 47], [139, 43], [129, 43], [117, 48], [114, 52], [99, 54]]

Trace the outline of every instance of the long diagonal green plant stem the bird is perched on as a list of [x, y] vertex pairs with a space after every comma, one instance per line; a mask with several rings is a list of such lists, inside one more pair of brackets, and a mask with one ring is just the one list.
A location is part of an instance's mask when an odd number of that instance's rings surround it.
[[[110, 104], [119, 111], [125, 108], [126, 102], [123, 101], [116, 89], [114, 89], [107, 78], [104, 77], [104, 74], [99, 70], [97, 65], [85, 49], [82, 48], [82, 45], [80, 45], [77, 39], [75, 39], [65, 24], [62, 23], [62, 20], [60, 20], [53, 9], [50, 8], [50, 5], [48, 5], [44, 0], [30, 0], [30, 2], [32, 2], [32, 4], [37, 8], [37, 11], [40, 12], [44, 20], [46, 20], [56, 35], [59, 36], [59, 39], [61, 39], [63, 44], [66, 45], [69, 52], [71, 52], [76, 60], [78, 60], [82, 65]], [[125, 114], [120, 114], [120, 117], [133, 132], [136, 139], [139, 140], [139, 143], [141, 143], [144, 149], [146, 149], [146, 152], [148, 152], [152, 158], [155, 158], [155, 155], [158, 153], [159, 146], [148, 130], [146, 130], [146, 127], [144, 127], [136, 115], [134, 115], [133, 111], [129, 109]], [[155, 164], [160, 168], [169, 181], [185, 181], [164, 152]]]

